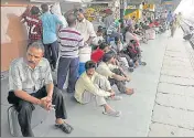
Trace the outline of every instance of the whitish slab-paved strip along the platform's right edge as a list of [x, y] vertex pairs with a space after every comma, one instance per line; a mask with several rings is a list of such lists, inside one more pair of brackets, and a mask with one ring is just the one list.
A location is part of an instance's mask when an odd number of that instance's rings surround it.
[[177, 30], [169, 39], [149, 136], [194, 137], [194, 51]]

